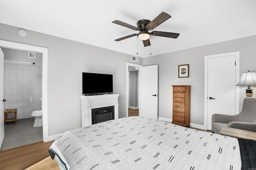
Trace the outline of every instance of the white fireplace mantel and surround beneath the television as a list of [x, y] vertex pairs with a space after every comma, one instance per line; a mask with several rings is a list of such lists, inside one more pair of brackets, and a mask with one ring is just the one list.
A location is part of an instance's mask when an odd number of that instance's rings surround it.
[[118, 119], [119, 94], [104, 94], [96, 96], [80, 96], [82, 105], [82, 127], [92, 125], [92, 109], [114, 106], [115, 119]]

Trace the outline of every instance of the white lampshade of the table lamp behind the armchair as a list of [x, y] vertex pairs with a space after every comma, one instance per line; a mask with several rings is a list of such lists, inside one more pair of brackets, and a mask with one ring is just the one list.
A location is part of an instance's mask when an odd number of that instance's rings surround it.
[[256, 72], [243, 72], [242, 77], [236, 86], [256, 86]]

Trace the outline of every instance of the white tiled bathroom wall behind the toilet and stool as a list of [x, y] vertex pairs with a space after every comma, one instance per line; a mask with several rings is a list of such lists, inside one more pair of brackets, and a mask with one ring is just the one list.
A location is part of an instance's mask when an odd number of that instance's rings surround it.
[[4, 63], [4, 109], [17, 108], [17, 119], [32, 117], [32, 111], [42, 109], [42, 64]]

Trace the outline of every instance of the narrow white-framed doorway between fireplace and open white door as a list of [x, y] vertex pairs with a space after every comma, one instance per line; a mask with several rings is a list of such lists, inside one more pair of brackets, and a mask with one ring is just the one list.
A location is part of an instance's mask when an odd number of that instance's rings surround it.
[[126, 63], [126, 117], [139, 115], [139, 67], [142, 65]]

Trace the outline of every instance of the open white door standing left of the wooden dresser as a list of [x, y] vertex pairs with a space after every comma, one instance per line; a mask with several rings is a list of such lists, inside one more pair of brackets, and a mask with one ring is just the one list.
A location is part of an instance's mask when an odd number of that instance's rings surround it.
[[139, 68], [139, 115], [158, 119], [158, 65]]

